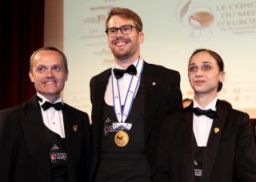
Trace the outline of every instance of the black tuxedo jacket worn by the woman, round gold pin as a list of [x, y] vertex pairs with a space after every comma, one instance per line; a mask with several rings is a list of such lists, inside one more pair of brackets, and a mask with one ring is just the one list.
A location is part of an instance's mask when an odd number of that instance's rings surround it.
[[[166, 117], [159, 137], [154, 181], [194, 181], [191, 104]], [[218, 101], [204, 154], [201, 182], [256, 181], [256, 149], [249, 116]]]

